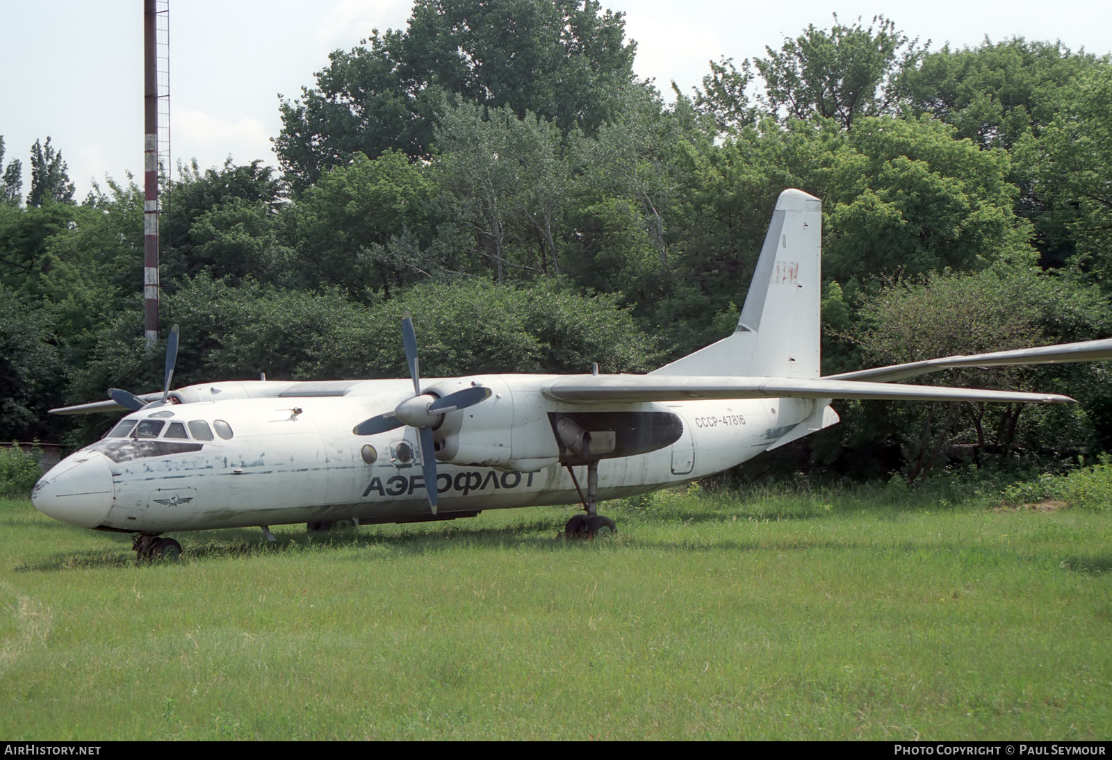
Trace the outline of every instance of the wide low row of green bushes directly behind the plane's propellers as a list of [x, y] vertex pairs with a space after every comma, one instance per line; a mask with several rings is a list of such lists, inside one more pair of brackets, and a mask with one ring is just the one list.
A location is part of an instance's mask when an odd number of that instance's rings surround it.
[[[163, 308], [165, 321], [181, 329], [179, 386], [256, 379], [260, 371], [295, 380], [408, 377], [400, 330], [407, 309], [423, 377], [584, 372], [594, 361], [606, 372], [645, 371], [658, 356], [615, 298], [577, 296], [549, 280], [423, 282], [397, 299], [357, 303], [338, 290], [250, 280], [231, 287], [202, 274]], [[137, 300], [100, 328], [88, 361], [72, 372], [70, 399], [99, 398], [109, 387], [160, 387], [161, 362], [146, 353], [139, 313]]]

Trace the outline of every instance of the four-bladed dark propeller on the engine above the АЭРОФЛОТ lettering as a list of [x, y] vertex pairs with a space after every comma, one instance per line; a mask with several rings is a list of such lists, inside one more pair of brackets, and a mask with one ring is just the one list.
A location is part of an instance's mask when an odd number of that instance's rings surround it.
[[433, 508], [433, 514], [436, 514], [436, 449], [433, 441], [433, 428], [444, 414], [474, 407], [490, 398], [490, 389], [471, 386], [440, 398], [433, 393], [421, 393], [417, 333], [414, 332], [414, 320], [408, 311], [401, 313], [401, 343], [406, 349], [409, 376], [414, 380], [414, 396], [395, 407], [394, 411], [364, 420], [355, 426], [351, 432], [356, 436], [375, 436], [405, 424], [416, 428], [417, 442], [420, 447], [421, 471], [425, 477], [425, 492], [428, 493], [428, 504]]

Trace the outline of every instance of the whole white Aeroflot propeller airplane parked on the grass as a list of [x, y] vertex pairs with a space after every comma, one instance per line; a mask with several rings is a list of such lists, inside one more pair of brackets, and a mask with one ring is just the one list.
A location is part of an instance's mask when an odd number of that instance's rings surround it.
[[952, 367], [1112, 358], [1112, 340], [947, 357], [820, 377], [821, 203], [776, 202], [737, 330], [645, 376], [481, 374], [245, 381], [51, 410], [130, 409], [101, 440], [34, 487], [39, 511], [128, 532], [140, 558], [177, 556], [166, 532], [341, 520], [473, 517], [486, 509], [582, 503], [568, 537], [615, 529], [596, 503], [728, 469], [838, 421], [833, 399], [1072, 401], [1055, 394], [892, 382]]

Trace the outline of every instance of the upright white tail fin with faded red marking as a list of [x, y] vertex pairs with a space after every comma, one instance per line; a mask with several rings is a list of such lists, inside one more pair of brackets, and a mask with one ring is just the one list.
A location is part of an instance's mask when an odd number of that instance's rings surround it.
[[780, 193], [734, 334], [651, 374], [818, 377], [822, 201]]

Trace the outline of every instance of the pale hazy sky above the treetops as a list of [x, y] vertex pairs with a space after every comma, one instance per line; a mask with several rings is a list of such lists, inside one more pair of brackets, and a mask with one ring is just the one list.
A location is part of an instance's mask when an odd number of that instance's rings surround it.
[[[261, 159], [277, 166], [270, 138], [281, 129], [279, 94], [296, 98], [328, 66], [332, 50], [349, 50], [373, 29], [404, 29], [411, 0], [169, 0], [170, 132], [172, 161], [201, 169]], [[610, 0], [637, 42], [634, 69], [671, 94], [691, 92], [725, 56], [765, 56], [807, 24], [868, 22], [884, 13], [896, 28], [936, 50], [975, 47], [1011, 37], [1061, 40], [1071, 50], [1112, 51], [1106, 0], [970, 2], [934, 0]], [[62, 152], [77, 198], [105, 178], [142, 173], [142, 0], [0, 0], [0, 136], [4, 166], [23, 162], [37, 139]]]

